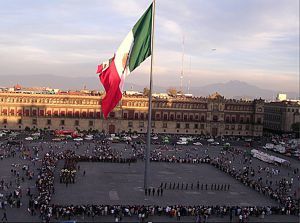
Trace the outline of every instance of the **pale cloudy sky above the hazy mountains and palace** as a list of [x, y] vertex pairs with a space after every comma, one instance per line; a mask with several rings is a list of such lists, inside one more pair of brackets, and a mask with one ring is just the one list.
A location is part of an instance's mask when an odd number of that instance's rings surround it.
[[[95, 76], [150, 0], [0, 0], [1, 75]], [[299, 0], [156, 0], [154, 85], [299, 91]], [[215, 50], [214, 50], [215, 49]], [[148, 58], [128, 82], [147, 86]]]

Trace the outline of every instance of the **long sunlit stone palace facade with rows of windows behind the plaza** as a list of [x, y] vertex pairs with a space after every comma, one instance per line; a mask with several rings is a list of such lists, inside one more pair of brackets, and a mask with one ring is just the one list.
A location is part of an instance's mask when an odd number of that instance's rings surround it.
[[[105, 120], [101, 96], [0, 93], [0, 129], [78, 129], [146, 133], [148, 98], [124, 95]], [[152, 132], [261, 136], [264, 101], [210, 97], [154, 97]]]

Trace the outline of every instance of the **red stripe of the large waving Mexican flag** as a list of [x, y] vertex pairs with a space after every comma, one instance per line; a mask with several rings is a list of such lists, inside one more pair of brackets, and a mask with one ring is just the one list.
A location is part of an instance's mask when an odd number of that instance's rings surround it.
[[108, 67], [103, 70], [103, 64], [98, 65], [97, 73], [105, 89], [105, 96], [102, 99], [102, 112], [106, 119], [108, 114], [116, 107], [122, 98], [122, 92], [120, 91], [120, 76], [117, 72], [114, 58], [110, 61]]

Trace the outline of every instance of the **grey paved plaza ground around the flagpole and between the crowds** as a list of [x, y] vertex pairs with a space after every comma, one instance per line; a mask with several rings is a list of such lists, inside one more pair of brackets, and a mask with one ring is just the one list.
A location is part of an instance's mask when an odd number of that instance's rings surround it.
[[[93, 155], [93, 148], [95, 142], [81, 142], [80, 145], [75, 146], [74, 141], [68, 142], [24, 142], [24, 147], [32, 151], [35, 147], [40, 148], [38, 155], [35, 157], [42, 158], [44, 154], [53, 150], [56, 153], [65, 150], [74, 150], [76, 154]], [[111, 147], [117, 153], [122, 153], [124, 157], [132, 155], [132, 150], [129, 149], [125, 143], [111, 144]], [[37, 194], [35, 188], [36, 177], [41, 167], [40, 161], [33, 162], [31, 159], [24, 158], [18, 146], [14, 146], [16, 155], [14, 157], [6, 157], [0, 160], [0, 175], [1, 179], [10, 184], [8, 189], [2, 190], [1, 193], [5, 196], [20, 185], [22, 189], [21, 206], [6, 208], [6, 213], [9, 221], [40, 221], [39, 215], [31, 216], [27, 210], [29, 197], [26, 196], [26, 190], [30, 188], [32, 194]], [[240, 147], [242, 148], [242, 147]], [[181, 146], [174, 149], [172, 146], [161, 147], [153, 145], [154, 153], [160, 155], [172, 156], [216, 156], [220, 153], [220, 146], [201, 146], [195, 149], [195, 146]], [[244, 148], [247, 150], [247, 148]], [[142, 150], [142, 147], [141, 147]], [[33, 154], [33, 152], [32, 152]], [[233, 165], [237, 169], [243, 169], [246, 164], [241, 160], [242, 155], [236, 156], [232, 159]], [[290, 159], [291, 167], [296, 168], [298, 161]], [[29, 169], [34, 171], [34, 178], [29, 180], [25, 176], [25, 171], [22, 170], [24, 165], [28, 165]], [[219, 170], [211, 164], [207, 163], [170, 163], [170, 162], [151, 162], [150, 164], [150, 187], [159, 188], [163, 185], [164, 191], [162, 196], [156, 193], [153, 196], [145, 195], [143, 189], [143, 174], [144, 162], [138, 159], [133, 163], [112, 163], [112, 162], [78, 162], [76, 168], [75, 183], [64, 184], [60, 183], [60, 171], [64, 165], [64, 160], [59, 160], [54, 170], [54, 188], [55, 193], [52, 195], [51, 204], [55, 205], [90, 205], [90, 204], [105, 204], [105, 205], [206, 205], [206, 206], [278, 206], [279, 203], [268, 196], [262, 195], [257, 191], [245, 186], [240, 181], [234, 179], [227, 173]], [[257, 168], [258, 166], [266, 167], [266, 164], [257, 159], [253, 159], [251, 166]], [[281, 176], [290, 176], [291, 169], [286, 167], [279, 168]], [[16, 176], [12, 170], [19, 173], [20, 180], [17, 182]], [[261, 173], [262, 177], [266, 177], [274, 182], [280, 179], [281, 176], [266, 176]], [[299, 180], [295, 177], [296, 183]], [[203, 187], [197, 188], [197, 183]], [[164, 187], [164, 185], [167, 185]], [[171, 188], [169, 185], [172, 185]], [[173, 185], [175, 188], [173, 189]], [[188, 186], [186, 187], [186, 184]], [[193, 184], [193, 187], [191, 186]], [[216, 190], [211, 188], [211, 185], [230, 185], [228, 190]], [[177, 188], [179, 185], [179, 188]], [[184, 187], [182, 188], [182, 185]], [[205, 187], [207, 185], [207, 189]], [[295, 184], [294, 188], [297, 187]], [[294, 189], [293, 188], [293, 189]], [[0, 211], [1, 216], [3, 210]], [[277, 215], [276, 215], [277, 216]], [[268, 216], [263, 221], [279, 221], [279, 222], [297, 222], [296, 216]], [[114, 221], [113, 217], [78, 217], [74, 216], [72, 219], [77, 221]], [[126, 221], [134, 222], [136, 218], [125, 217]], [[194, 222], [195, 218], [192, 216], [184, 217], [185, 221]], [[249, 218], [251, 221], [261, 221], [258, 218]], [[249, 220], [248, 219], [248, 220]], [[56, 221], [56, 219], [51, 219]], [[60, 219], [61, 220], [61, 219]], [[152, 216], [149, 221], [174, 221], [166, 216]], [[229, 219], [226, 219], [226, 221]], [[237, 220], [237, 218], [235, 219]], [[222, 218], [211, 216], [208, 221], [222, 221]], [[223, 219], [224, 221], [224, 219]]]

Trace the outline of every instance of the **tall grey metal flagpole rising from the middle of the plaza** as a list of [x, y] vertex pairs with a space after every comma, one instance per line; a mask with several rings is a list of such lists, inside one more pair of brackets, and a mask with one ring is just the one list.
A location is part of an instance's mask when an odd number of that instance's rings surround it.
[[144, 189], [149, 188], [149, 167], [150, 167], [150, 150], [151, 150], [151, 118], [152, 118], [152, 72], [153, 72], [153, 55], [154, 55], [154, 16], [155, 16], [155, 0], [152, 6], [152, 30], [151, 30], [151, 65], [150, 65], [150, 87], [148, 102], [148, 126], [147, 126], [147, 146], [145, 151], [145, 173], [144, 173]]

